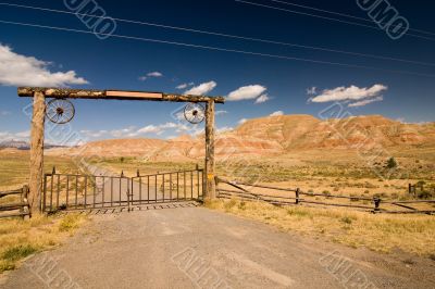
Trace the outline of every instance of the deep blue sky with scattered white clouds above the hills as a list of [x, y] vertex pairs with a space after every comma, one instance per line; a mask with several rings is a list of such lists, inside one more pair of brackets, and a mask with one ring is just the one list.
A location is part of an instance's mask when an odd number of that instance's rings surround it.
[[[285, 1], [370, 20], [368, 13], [362, 11], [356, 1]], [[268, 116], [274, 112], [318, 116], [322, 110], [333, 103], [334, 99], [338, 99], [353, 115], [382, 114], [394, 120], [414, 123], [435, 121], [434, 76], [431, 76], [435, 75], [435, 33], [423, 34], [432, 39], [405, 35], [398, 40], [393, 40], [382, 29], [294, 14], [234, 0], [105, 0], [97, 2], [107, 15], [114, 18], [376, 54], [428, 65], [231, 39], [123, 22], [116, 22], [115, 35], [373, 66], [380, 70], [343, 67], [117, 37], [101, 40], [92, 34], [0, 23], [2, 48], [0, 64], [3, 66], [0, 67], [1, 139], [21, 139], [28, 135], [29, 120], [23, 113], [23, 108], [28, 105], [30, 100], [20, 99], [16, 96], [16, 86], [44, 85], [47, 81], [70, 87], [177, 93], [206, 84], [201, 87], [203, 89], [199, 89], [200, 92], [211, 96], [228, 96], [233, 92], [234, 100], [237, 100], [217, 106], [217, 110], [225, 111], [217, 115], [219, 128], [235, 127], [243, 118]], [[271, 0], [250, 2], [338, 17]], [[400, 15], [408, 20], [411, 28], [431, 32], [434, 27], [432, 11], [435, 9], [435, 3], [425, 1], [417, 5], [405, 0], [389, 2]], [[11, 3], [69, 11], [64, 1], [28, 0], [11, 1]], [[349, 18], [346, 20], [349, 21]], [[89, 32], [89, 28], [75, 15], [24, 8], [0, 5], [0, 21]], [[359, 21], [359, 23], [376, 27], [376, 24], [371, 22]], [[417, 34], [417, 32], [412, 30], [409, 34]], [[34, 59], [29, 59], [30, 56]], [[36, 74], [42, 74], [42, 80], [23, 73], [22, 67], [15, 67], [16, 65], [5, 62], [15, 59], [29, 65], [26, 72], [35, 70]], [[71, 71], [75, 75], [66, 74]], [[426, 76], [386, 71], [407, 71]], [[154, 74], [147, 76], [150, 73]], [[80, 84], [84, 80], [87, 84]], [[176, 88], [183, 84], [195, 85], [184, 89]], [[316, 89], [311, 89], [312, 87]], [[238, 90], [239, 88], [244, 89]], [[307, 90], [310, 89], [312, 93], [308, 93]], [[244, 97], [248, 99], [243, 99]], [[260, 97], [263, 102], [256, 103], [256, 101], [259, 102]], [[309, 101], [310, 98], [311, 101]], [[89, 140], [113, 137], [167, 138], [184, 131], [183, 124], [173, 117], [179, 104], [89, 100], [73, 102], [76, 108], [76, 117], [71, 123], [71, 127], [80, 131]], [[177, 126], [174, 127], [167, 123], [174, 123]], [[55, 141], [54, 138], [53, 142]]]

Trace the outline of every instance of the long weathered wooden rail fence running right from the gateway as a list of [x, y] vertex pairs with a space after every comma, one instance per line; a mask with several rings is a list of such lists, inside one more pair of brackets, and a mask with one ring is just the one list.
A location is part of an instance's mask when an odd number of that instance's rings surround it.
[[[248, 201], [264, 201], [274, 205], [321, 205], [340, 206], [362, 210], [372, 213], [389, 214], [435, 214], [435, 200], [387, 200], [378, 197], [348, 197], [331, 193], [304, 192], [299, 188], [277, 188], [257, 184], [235, 183], [216, 177], [217, 197], [221, 199], [241, 199]], [[253, 192], [252, 190], [257, 191]], [[278, 193], [259, 192], [261, 190]], [[314, 200], [312, 198], [315, 198]], [[318, 200], [320, 199], [320, 200]], [[324, 200], [333, 200], [326, 202]], [[338, 200], [338, 201], [337, 201]], [[348, 200], [350, 203], [344, 203]], [[341, 202], [339, 202], [341, 201]], [[432, 206], [431, 206], [432, 205]], [[419, 208], [417, 208], [419, 206]]]

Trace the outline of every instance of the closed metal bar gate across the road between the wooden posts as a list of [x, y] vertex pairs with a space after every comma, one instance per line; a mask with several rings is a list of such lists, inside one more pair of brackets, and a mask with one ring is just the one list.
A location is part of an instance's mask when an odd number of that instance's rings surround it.
[[86, 210], [202, 199], [203, 169], [124, 176], [46, 174], [41, 210]]

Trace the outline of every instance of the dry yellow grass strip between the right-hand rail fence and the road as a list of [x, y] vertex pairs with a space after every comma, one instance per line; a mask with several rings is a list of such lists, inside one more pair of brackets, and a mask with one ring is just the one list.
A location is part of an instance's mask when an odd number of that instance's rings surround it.
[[207, 202], [206, 206], [353, 248], [380, 252], [402, 250], [435, 260], [435, 218], [427, 215], [373, 215], [340, 209], [277, 208], [237, 200]]

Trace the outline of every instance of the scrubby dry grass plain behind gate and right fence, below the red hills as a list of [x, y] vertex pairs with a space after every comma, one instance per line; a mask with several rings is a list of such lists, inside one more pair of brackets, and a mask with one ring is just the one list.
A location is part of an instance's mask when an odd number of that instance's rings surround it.
[[[282, 188], [300, 188], [306, 192], [350, 197], [378, 196], [403, 199], [408, 185], [425, 181], [435, 198], [435, 149], [409, 149], [390, 152], [398, 167], [383, 167], [388, 156], [376, 162], [357, 152], [335, 150], [298, 151], [277, 158], [227, 158], [217, 160], [216, 175], [228, 180], [259, 183]], [[149, 162], [140, 158], [90, 160], [91, 163], [127, 176], [192, 169], [198, 162]], [[393, 172], [393, 173], [391, 173]]]

